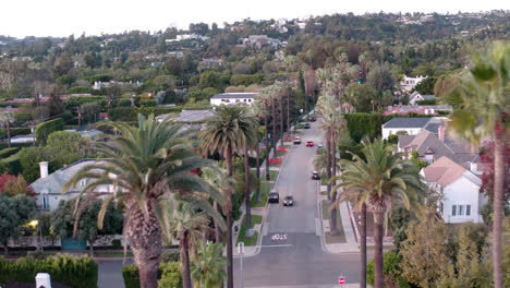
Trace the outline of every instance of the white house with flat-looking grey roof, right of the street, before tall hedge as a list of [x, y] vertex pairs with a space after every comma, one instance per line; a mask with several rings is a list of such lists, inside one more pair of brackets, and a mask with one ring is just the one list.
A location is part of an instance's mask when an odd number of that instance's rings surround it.
[[444, 117], [396, 117], [381, 125], [382, 139], [393, 134], [416, 135], [423, 129], [437, 133], [444, 120]]

